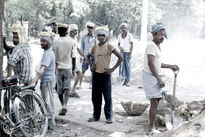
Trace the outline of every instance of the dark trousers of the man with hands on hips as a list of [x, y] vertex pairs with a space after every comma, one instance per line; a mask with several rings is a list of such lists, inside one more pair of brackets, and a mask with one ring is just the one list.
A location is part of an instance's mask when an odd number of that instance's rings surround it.
[[93, 117], [100, 119], [102, 95], [105, 100], [104, 113], [106, 119], [112, 118], [112, 89], [111, 75], [93, 72], [92, 75], [92, 103]]

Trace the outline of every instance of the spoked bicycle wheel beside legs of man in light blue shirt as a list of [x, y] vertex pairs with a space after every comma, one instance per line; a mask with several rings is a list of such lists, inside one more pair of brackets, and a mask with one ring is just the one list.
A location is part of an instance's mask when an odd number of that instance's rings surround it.
[[21, 91], [14, 100], [16, 122], [25, 137], [44, 137], [48, 129], [48, 117], [45, 103], [32, 90]]

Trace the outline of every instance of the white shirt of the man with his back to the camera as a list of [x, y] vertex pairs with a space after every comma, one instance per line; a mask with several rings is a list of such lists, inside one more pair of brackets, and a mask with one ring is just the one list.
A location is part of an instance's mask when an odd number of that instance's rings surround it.
[[72, 68], [72, 58], [76, 56], [74, 45], [73, 40], [68, 39], [68, 37], [59, 37], [57, 40], [54, 40], [53, 51], [55, 53], [58, 68]]

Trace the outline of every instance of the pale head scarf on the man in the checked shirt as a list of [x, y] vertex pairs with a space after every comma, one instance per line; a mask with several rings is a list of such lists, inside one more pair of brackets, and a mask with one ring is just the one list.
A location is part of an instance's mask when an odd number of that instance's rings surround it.
[[13, 33], [17, 33], [19, 36], [19, 43], [27, 43], [28, 37], [26, 35], [26, 29], [21, 25], [14, 25], [11, 27]]

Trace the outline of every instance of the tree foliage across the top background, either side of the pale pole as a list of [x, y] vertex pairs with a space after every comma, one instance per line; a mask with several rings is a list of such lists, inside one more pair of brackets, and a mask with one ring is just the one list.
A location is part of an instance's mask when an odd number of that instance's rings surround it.
[[[196, 19], [198, 7], [204, 0], [148, 0], [148, 28], [156, 22], [173, 27], [179, 22]], [[118, 35], [122, 22], [129, 31], [140, 35], [142, 0], [12, 0], [7, 2], [5, 24], [28, 21], [32, 31], [41, 30], [52, 21], [76, 23], [83, 30], [87, 21], [108, 25]], [[197, 24], [197, 23], [196, 23]]]

